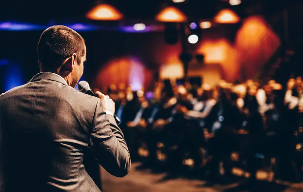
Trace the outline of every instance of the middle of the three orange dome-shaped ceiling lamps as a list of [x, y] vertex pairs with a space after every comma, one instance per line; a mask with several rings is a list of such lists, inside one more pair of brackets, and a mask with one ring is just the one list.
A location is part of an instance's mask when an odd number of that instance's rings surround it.
[[166, 7], [156, 16], [156, 20], [161, 22], [185, 22], [187, 17], [176, 7]]

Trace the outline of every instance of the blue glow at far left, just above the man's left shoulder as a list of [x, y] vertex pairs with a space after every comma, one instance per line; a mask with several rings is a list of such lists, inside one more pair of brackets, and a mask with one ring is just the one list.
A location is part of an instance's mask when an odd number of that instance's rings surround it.
[[4, 78], [5, 91], [24, 84], [21, 69], [18, 64], [8, 64], [6, 69], [6, 76]]

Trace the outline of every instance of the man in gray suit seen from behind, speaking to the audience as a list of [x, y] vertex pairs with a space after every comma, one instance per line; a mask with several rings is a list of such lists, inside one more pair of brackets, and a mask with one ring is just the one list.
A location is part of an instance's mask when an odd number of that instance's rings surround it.
[[[115, 122], [115, 103], [77, 91], [86, 61], [83, 38], [62, 25], [38, 43], [40, 73], [0, 95], [3, 192], [100, 192], [82, 163], [92, 152], [117, 177], [130, 155]], [[0, 190], [0, 191], [1, 191]]]

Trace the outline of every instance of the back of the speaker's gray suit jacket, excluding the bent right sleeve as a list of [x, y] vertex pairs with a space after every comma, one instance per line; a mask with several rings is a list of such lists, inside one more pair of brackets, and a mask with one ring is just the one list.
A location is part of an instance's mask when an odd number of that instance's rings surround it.
[[100, 192], [82, 164], [98, 101], [56, 74], [38, 75], [2, 94], [5, 189]]

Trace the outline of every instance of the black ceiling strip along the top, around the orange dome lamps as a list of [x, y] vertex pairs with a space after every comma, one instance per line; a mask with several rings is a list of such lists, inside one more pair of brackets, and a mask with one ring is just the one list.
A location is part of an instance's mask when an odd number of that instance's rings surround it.
[[[1, 21], [25, 21], [49, 23], [51, 21], [87, 21], [85, 13], [96, 0], [1, 0]], [[172, 0], [107, 0], [125, 16], [124, 20], [154, 21], [154, 17], [164, 6], [174, 4], [190, 21], [211, 19], [220, 9], [229, 7], [240, 17], [251, 14], [274, 14], [280, 11], [284, 2], [290, 0], [242, 0], [239, 6], [230, 6], [228, 0], [187, 0], [173, 3]]]

